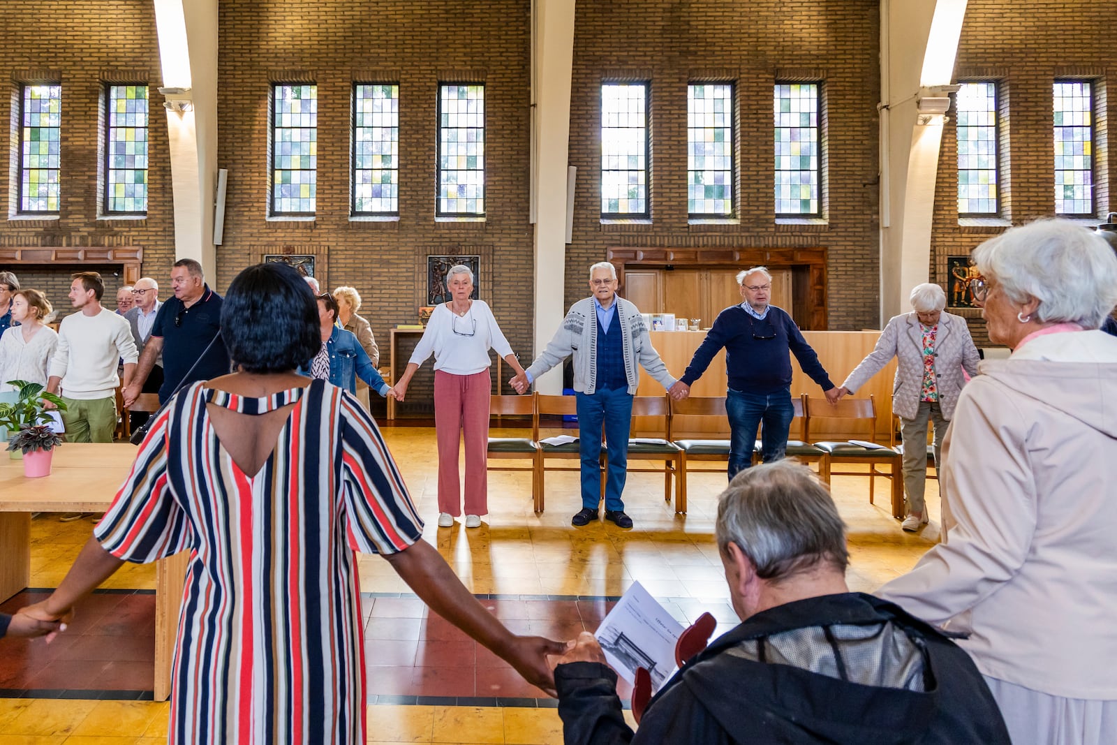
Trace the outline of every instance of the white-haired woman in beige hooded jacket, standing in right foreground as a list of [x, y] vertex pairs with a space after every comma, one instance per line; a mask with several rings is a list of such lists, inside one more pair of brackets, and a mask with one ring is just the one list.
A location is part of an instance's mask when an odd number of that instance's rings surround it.
[[974, 251], [981, 363], [944, 443], [944, 542], [879, 595], [973, 656], [1015, 745], [1117, 741], [1117, 257], [1067, 220]]

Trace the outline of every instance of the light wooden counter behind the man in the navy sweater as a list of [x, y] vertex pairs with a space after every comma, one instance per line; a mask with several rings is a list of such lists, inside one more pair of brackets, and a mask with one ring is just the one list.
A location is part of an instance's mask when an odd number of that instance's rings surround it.
[[[819, 355], [819, 361], [822, 366], [825, 367], [827, 372], [830, 373], [830, 380], [833, 381], [834, 385], [841, 385], [842, 381], [846, 380], [846, 375], [852, 372], [853, 367], [865, 359], [872, 347], [877, 344], [877, 340], [880, 337], [879, 331], [804, 331], [803, 337], [806, 343], [810, 344]], [[656, 350], [659, 351], [660, 356], [663, 362], [667, 363], [667, 369], [672, 375], [678, 378], [682, 374], [682, 371], [687, 369], [690, 364], [690, 357], [694, 356], [695, 350], [701, 344], [703, 340], [706, 338], [706, 332], [704, 331], [653, 331], [651, 332], [651, 342], [656, 345]], [[791, 367], [792, 367], [792, 379], [791, 379], [791, 394], [800, 395], [801, 393], [806, 393], [811, 398], [821, 398], [822, 389], [820, 389], [814, 381], [803, 374], [803, 371], [799, 367], [799, 362], [795, 360], [795, 355], [791, 355]], [[888, 365], [881, 370], [879, 373], [872, 376], [872, 379], [866, 383], [860, 391], [857, 392], [857, 398], [869, 398], [871, 393], [876, 398], [877, 402], [877, 432], [876, 440], [878, 442], [888, 442], [888, 428], [889, 422], [892, 418], [892, 376], [896, 374], [896, 360], [894, 359]], [[725, 374], [725, 350], [717, 353], [714, 361], [710, 362], [709, 367], [706, 369], [706, 373], [698, 379], [693, 386], [690, 386], [691, 395], [725, 395], [726, 388], [726, 374]], [[660, 395], [663, 393], [663, 389], [653, 381], [643, 367], [640, 369], [640, 385], [637, 389], [638, 395]], [[647, 436], [651, 433], [651, 430], [646, 429], [645, 418], [636, 418], [633, 420], [633, 429], [636, 434]], [[647, 420], [648, 424], [653, 424], [655, 420]], [[819, 422], [818, 426], [811, 427], [811, 439], [841, 439], [846, 440], [851, 437], [865, 438], [865, 432], [849, 431], [842, 432], [837, 427], [840, 427], [840, 422], [828, 421], [825, 424], [832, 424], [831, 428], [825, 428], [823, 422]], [[676, 417], [674, 420], [674, 432], [676, 438], [682, 437], [729, 437], [729, 423], [727, 421], [715, 421], [709, 417]], [[791, 429], [792, 439], [800, 436], [798, 432], [798, 427], [794, 424]]]

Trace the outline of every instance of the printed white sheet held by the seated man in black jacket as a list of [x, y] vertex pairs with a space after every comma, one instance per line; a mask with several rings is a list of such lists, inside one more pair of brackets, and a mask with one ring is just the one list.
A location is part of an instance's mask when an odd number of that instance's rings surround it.
[[633, 582], [593, 636], [618, 675], [634, 682], [636, 669], [645, 668], [651, 675], [655, 693], [678, 669], [675, 644], [680, 633], [682, 624], [643, 585]]

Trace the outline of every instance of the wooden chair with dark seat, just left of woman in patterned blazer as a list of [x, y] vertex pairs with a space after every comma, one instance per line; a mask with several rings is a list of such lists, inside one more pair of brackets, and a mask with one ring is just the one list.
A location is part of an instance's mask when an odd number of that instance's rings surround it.
[[[850, 424], [866, 426], [868, 433], [867, 441], [873, 441], [877, 431], [877, 405], [873, 397], [866, 399], [844, 398], [838, 403], [830, 403], [825, 399], [805, 398], [804, 409], [806, 413], [805, 434], [808, 441], [811, 440], [811, 422], [821, 419], [840, 419]], [[901, 468], [903, 458], [892, 448], [881, 446], [879, 448], [867, 448], [852, 442], [822, 441], [813, 442], [822, 448], [829, 456], [822, 464], [827, 474], [823, 480], [830, 480], [830, 476], [863, 476], [860, 471], [836, 471], [832, 470], [834, 462], [868, 464], [869, 466], [869, 504], [873, 502], [873, 485], [878, 476], [884, 476], [891, 481], [892, 517], [904, 518], [904, 472]], [[877, 466], [887, 464], [889, 470], [879, 471]]]

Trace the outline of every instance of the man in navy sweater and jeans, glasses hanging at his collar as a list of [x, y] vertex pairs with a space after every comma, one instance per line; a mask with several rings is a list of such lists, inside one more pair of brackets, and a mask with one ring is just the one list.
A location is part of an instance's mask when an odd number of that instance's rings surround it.
[[762, 456], [764, 462], [783, 458], [787, 430], [794, 409], [791, 405], [791, 354], [799, 360], [811, 380], [822, 386], [830, 402], [838, 400], [838, 389], [819, 363], [819, 355], [806, 343], [799, 327], [783, 309], [768, 305], [772, 275], [765, 267], [745, 269], [737, 275], [741, 305], [722, 311], [695, 351], [690, 365], [679, 382], [690, 385], [701, 378], [718, 350], [725, 347], [729, 390], [725, 409], [729, 418], [729, 479], [752, 465], [756, 428], [764, 422]]

